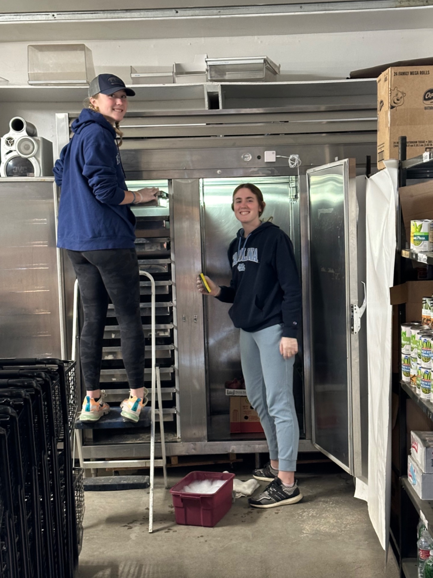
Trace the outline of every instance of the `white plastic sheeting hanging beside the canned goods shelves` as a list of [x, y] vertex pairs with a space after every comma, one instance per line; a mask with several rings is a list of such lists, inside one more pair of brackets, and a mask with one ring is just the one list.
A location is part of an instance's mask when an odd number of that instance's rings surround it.
[[391, 507], [391, 328], [398, 161], [367, 179], [368, 484], [356, 480], [387, 552]]

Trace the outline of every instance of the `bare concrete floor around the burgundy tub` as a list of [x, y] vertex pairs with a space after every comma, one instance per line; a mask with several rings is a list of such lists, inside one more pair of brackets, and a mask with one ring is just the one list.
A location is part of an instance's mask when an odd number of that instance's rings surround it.
[[[158, 477], [153, 534], [148, 490], [86, 492], [79, 577], [398, 578], [391, 553], [385, 570], [367, 505], [353, 498], [352, 478], [336, 466], [328, 470], [298, 473], [302, 502], [257, 510], [240, 498], [214, 528], [176, 525]], [[169, 469], [170, 487], [186, 473]], [[251, 477], [245, 468], [244, 475], [235, 473]]]

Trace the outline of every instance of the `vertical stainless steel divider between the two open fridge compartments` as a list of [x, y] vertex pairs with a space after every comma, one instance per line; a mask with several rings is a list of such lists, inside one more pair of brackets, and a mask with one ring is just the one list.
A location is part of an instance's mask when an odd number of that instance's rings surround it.
[[201, 271], [199, 180], [174, 179], [172, 186], [180, 431], [182, 442], [206, 441], [203, 298], [196, 289]]

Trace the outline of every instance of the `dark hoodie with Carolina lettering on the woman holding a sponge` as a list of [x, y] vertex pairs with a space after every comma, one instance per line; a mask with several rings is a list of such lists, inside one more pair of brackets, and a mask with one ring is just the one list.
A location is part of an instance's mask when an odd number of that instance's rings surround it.
[[221, 287], [218, 299], [233, 303], [229, 315], [234, 327], [259, 331], [283, 325], [283, 337], [296, 338], [301, 321], [301, 287], [293, 245], [285, 232], [262, 223], [244, 238], [244, 229], [230, 243], [230, 287]]

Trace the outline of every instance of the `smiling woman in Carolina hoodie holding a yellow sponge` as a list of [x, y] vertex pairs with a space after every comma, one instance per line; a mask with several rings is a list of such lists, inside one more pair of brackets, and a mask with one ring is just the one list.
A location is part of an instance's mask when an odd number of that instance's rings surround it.
[[289, 237], [272, 223], [262, 223], [266, 203], [251, 183], [234, 190], [232, 209], [242, 228], [230, 243], [230, 287], [219, 287], [206, 277], [203, 295], [233, 303], [229, 310], [240, 328], [242, 372], [248, 401], [260, 417], [270, 462], [253, 476], [270, 484], [250, 498], [253, 507], [269, 508], [302, 499], [294, 479], [299, 427], [293, 399], [293, 363], [298, 351], [301, 289]]

